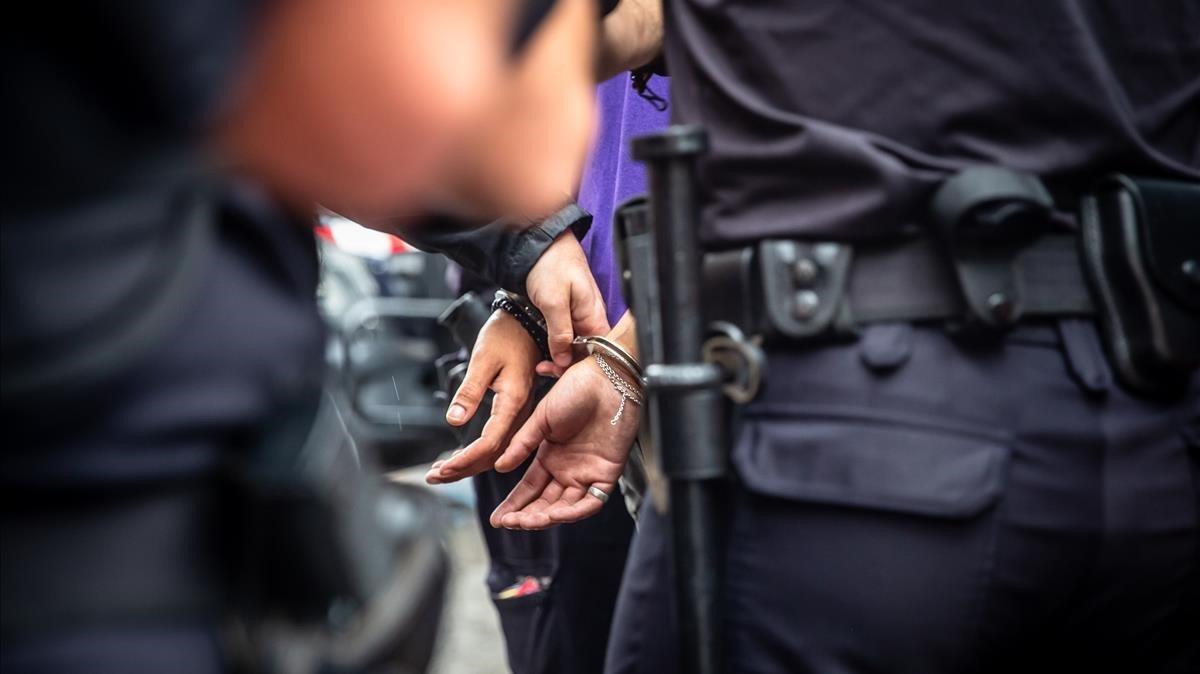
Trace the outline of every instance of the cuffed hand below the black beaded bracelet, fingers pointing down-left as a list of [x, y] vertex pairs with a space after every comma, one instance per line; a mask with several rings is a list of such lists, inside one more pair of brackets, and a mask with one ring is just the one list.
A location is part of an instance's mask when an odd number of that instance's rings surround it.
[[446, 421], [451, 426], [470, 421], [488, 390], [496, 393], [492, 415], [474, 443], [433, 464], [426, 482], [454, 482], [492, 468], [517, 423], [529, 414], [539, 360], [538, 345], [515, 318], [497, 311], [487, 319], [475, 338], [467, 374], [450, 402]]

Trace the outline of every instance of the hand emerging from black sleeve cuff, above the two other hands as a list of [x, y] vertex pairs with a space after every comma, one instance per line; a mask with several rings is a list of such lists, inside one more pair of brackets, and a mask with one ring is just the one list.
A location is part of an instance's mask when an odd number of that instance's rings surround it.
[[583, 248], [570, 231], [560, 234], [529, 270], [526, 291], [546, 318], [553, 367], [539, 367], [541, 374], [563, 374], [574, 360], [571, 342], [576, 335], [608, 332], [600, 288], [592, 278]]

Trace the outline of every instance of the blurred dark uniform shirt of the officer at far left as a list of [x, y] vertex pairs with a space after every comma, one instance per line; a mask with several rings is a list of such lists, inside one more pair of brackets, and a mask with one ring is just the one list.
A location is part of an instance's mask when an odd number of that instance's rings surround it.
[[[311, 227], [204, 168], [257, 5], [89, 1], [5, 22], [6, 372], [52, 350], [104, 361], [184, 258], [199, 267], [102, 375], [6, 391], [6, 487], [193, 479], [319, 378]], [[180, 204], [197, 198], [208, 243], [184, 254]]]

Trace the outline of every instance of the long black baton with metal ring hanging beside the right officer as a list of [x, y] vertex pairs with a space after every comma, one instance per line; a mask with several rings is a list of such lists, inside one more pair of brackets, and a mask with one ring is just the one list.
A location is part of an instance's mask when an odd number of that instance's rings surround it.
[[[721, 669], [716, 507], [726, 432], [722, 372], [703, 359], [696, 157], [706, 149], [704, 132], [690, 126], [632, 144], [649, 175], [656, 301], [637, 318], [658, 327], [642, 355], [650, 431], [671, 501], [679, 670], [715, 674]], [[644, 315], [649, 312], [655, 315]]]

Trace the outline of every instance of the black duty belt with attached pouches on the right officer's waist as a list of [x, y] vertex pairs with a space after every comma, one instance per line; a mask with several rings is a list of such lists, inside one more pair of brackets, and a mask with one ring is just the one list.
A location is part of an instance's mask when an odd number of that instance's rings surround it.
[[[626, 269], [643, 270], [626, 276], [635, 306], [658, 302], [649, 213], [640, 199], [618, 209], [618, 251]], [[1068, 204], [1034, 175], [971, 167], [934, 193], [917, 237], [763, 240], [706, 254], [703, 308], [716, 333], [707, 356], [751, 372], [726, 389], [745, 401], [763, 343], [853, 336], [877, 323], [996, 336], [1022, 320], [1094, 317], [1118, 379], [1176, 398], [1200, 369], [1198, 213], [1198, 182], [1114, 174]], [[647, 338], [661, 327], [646, 326]]]

